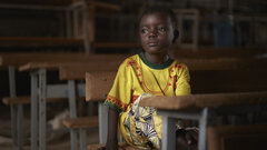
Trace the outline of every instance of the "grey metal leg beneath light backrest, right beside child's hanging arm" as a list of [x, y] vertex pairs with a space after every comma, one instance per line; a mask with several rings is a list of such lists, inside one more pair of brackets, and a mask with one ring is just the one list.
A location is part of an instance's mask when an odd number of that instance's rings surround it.
[[102, 102], [98, 103], [98, 117], [99, 117], [99, 143], [107, 142], [108, 134], [108, 107]]

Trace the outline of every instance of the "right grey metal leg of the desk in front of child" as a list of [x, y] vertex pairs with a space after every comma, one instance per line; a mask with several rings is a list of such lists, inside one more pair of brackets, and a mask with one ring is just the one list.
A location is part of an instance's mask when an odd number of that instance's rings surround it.
[[205, 108], [201, 111], [201, 116], [199, 119], [198, 150], [207, 149], [207, 117], [208, 117], [208, 108]]

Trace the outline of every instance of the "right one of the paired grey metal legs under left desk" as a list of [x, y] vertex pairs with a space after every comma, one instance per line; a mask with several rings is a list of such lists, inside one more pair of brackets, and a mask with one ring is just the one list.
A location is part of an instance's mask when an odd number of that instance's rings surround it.
[[47, 71], [39, 70], [39, 150], [46, 150], [47, 128]]

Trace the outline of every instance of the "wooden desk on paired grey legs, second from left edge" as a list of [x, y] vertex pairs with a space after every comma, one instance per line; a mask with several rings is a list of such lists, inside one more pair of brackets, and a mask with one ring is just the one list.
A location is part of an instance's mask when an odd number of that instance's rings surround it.
[[[99, 61], [107, 61], [107, 67], [110, 64], [121, 62], [126, 56], [123, 54], [92, 54], [83, 63], [88, 66], [97, 66]], [[75, 87], [73, 81], [69, 81], [68, 84], [47, 86], [47, 70], [59, 70], [60, 66], [71, 66], [73, 63], [81, 63], [81, 61], [65, 61], [65, 62], [29, 62], [19, 68], [20, 71], [30, 71], [31, 76], [31, 147], [37, 148], [38, 143], [38, 129], [39, 127], [39, 146], [46, 148], [46, 100], [47, 98], [75, 98], [70, 93], [69, 88]], [[78, 86], [78, 96], [85, 96], [82, 84]], [[39, 108], [38, 108], [39, 104]], [[39, 117], [37, 112], [39, 109]], [[71, 113], [75, 112], [72, 111]], [[71, 114], [72, 116], [72, 114]], [[39, 120], [39, 121], [38, 121]], [[39, 126], [38, 126], [39, 123]]]

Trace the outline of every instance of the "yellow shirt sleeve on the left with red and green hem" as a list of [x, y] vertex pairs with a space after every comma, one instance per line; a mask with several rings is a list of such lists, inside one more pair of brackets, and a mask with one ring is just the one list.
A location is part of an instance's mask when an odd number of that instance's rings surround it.
[[118, 112], [125, 111], [131, 99], [131, 68], [122, 62], [117, 72], [113, 86], [107, 96], [105, 104], [117, 110]]

